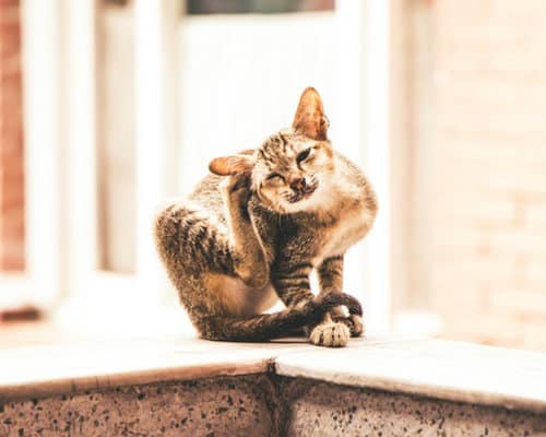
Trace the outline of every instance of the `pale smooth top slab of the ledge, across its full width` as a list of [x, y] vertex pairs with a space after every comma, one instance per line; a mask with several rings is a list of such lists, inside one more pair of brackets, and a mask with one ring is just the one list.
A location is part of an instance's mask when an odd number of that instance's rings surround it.
[[0, 402], [266, 373], [546, 413], [546, 354], [424, 339], [207, 342], [181, 336], [0, 350]]

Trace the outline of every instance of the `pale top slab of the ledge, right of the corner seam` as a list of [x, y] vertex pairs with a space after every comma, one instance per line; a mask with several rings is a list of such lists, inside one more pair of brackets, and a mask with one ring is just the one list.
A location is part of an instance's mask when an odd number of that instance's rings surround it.
[[418, 339], [352, 339], [282, 353], [276, 373], [546, 413], [546, 354]]

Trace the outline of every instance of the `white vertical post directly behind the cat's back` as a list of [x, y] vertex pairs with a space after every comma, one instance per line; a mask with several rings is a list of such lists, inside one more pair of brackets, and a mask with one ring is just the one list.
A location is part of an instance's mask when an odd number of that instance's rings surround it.
[[[152, 235], [157, 205], [176, 186], [177, 28], [181, 3], [134, 1], [136, 93], [136, 270], [158, 294], [162, 270]], [[153, 292], [153, 290], [149, 290]], [[156, 295], [157, 295], [156, 294]]]

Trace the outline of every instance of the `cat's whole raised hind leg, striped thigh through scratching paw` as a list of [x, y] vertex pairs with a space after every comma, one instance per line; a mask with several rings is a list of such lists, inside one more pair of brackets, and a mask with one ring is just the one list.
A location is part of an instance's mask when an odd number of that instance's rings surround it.
[[[155, 222], [159, 257], [176, 286], [190, 319], [200, 331], [202, 320], [237, 317], [246, 302], [233, 296], [229, 286], [211, 286], [211, 281], [236, 283], [247, 288], [248, 298], [269, 283], [269, 265], [261, 241], [246, 212], [248, 185], [244, 178], [228, 177], [223, 187], [226, 216], [191, 201], [166, 208]], [[212, 279], [216, 279], [213, 281]], [[225, 277], [225, 280], [222, 280]], [[240, 280], [240, 281], [239, 281]], [[239, 286], [240, 285], [240, 286]], [[235, 291], [237, 292], [237, 291]]]

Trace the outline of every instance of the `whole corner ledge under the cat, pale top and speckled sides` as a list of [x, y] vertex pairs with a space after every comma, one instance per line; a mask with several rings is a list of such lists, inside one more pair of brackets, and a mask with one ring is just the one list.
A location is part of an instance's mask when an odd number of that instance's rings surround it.
[[538, 435], [543, 381], [546, 354], [438, 340], [14, 347], [0, 436]]

